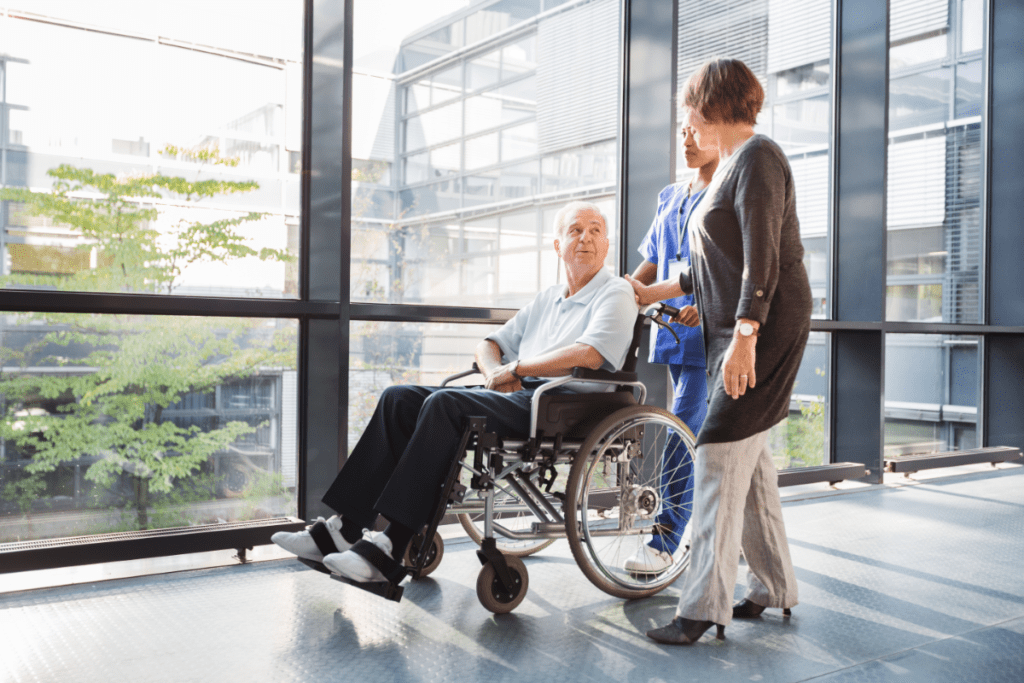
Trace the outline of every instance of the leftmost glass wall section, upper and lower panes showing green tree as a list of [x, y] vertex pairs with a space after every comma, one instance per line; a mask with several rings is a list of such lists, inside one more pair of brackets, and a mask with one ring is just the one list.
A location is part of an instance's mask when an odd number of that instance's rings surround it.
[[[0, 288], [296, 298], [303, 5], [5, 3]], [[294, 515], [297, 349], [0, 313], [0, 543]]]

